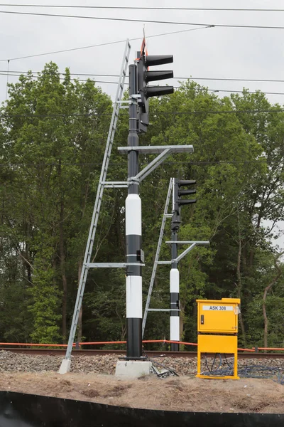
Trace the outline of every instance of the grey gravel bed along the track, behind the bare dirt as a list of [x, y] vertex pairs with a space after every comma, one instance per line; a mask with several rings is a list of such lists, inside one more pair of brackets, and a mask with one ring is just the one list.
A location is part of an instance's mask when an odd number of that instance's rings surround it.
[[[74, 373], [94, 373], [94, 374], [114, 374], [116, 368], [117, 355], [106, 354], [102, 356], [80, 356], [72, 357], [71, 371]], [[164, 364], [165, 367], [175, 369], [179, 375], [195, 375], [197, 369], [196, 359], [186, 359], [185, 357], [158, 357], [152, 359], [153, 362]], [[212, 363], [212, 359], [209, 359]], [[0, 371], [10, 372], [56, 372], [60, 368], [62, 356], [38, 356], [30, 354], [18, 354], [6, 350], [0, 351]], [[278, 367], [283, 369], [283, 359], [240, 359], [238, 366], [264, 366]], [[202, 367], [202, 369], [206, 369]]]

